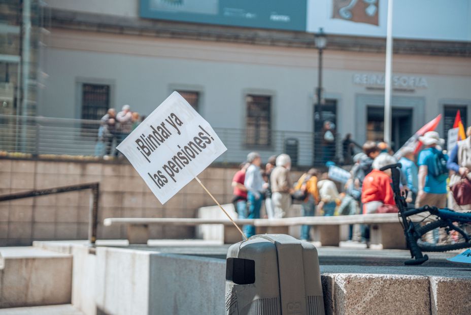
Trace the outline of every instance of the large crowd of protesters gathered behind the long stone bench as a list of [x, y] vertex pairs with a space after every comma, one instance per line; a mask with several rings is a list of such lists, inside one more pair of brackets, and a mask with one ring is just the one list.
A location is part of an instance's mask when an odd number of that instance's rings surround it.
[[[443, 151], [445, 141], [436, 131], [419, 137], [423, 147], [418, 154], [413, 147], [404, 147], [394, 154], [384, 142], [367, 141], [362, 152], [353, 156], [346, 183], [335, 182], [328, 172], [316, 168], [309, 169], [293, 183], [287, 154], [270, 157], [262, 170], [260, 155], [251, 152], [232, 179], [233, 203], [239, 218], [251, 219], [260, 218], [263, 201], [268, 219], [285, 217], [292, 200], [300, 200], [301, 216], [305, 217], [394, 213], [398, 209], [391, 187], [391, 170], [381, 168], [401, 163], [400, 187], [411, 207], [448, 206], [455, 211], [466, 211], [471, 209], [471, 204], [458, 205], [449, 189], [465, 177], [471, 179], [471, 127], [466, 135], [449, 155]], [[246, 225], [244, 233], [250, 237], [255, 234], [255, 228]], [[301, 226], [300, 238], [311, 240], [309, 225]], [[368, 227], [361, 226], [354, 233], [354, 227], [350, 226], [349, 240], [354, 239], [367, 242]]]

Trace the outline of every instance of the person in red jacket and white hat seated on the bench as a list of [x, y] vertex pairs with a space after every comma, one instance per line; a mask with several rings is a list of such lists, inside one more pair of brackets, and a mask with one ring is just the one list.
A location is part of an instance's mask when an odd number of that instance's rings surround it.
[[367, 174], [361, 188], [363, 214], [377, 213], [383, 204], [395, 205], [391, 188], [391, 170], [380, 170], [381, 167], [394, 163], [397, 163], [396, 159], [387, 153], [381, 153], [373, 161], [373, 170]]

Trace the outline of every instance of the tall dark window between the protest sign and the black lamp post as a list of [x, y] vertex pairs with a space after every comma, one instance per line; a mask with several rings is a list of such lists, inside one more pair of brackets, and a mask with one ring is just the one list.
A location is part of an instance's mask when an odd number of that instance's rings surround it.
[[271, 106], [272, 97], [247, 95], [247, 134], [248, 146], [270, 146], [272, 144]]

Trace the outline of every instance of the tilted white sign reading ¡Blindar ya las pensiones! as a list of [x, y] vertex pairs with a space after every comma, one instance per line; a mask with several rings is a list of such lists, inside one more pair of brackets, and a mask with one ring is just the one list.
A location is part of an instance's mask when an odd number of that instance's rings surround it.
[[173, 92], [117, 147], [163, 204], [227, 149]]

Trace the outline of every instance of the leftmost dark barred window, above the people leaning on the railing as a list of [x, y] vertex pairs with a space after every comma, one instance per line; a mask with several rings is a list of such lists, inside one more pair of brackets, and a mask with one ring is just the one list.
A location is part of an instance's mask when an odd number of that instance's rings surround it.
[[109, 108], [109, 85], [88, 83], [82, 85], [82, 119], [99, 120]]

